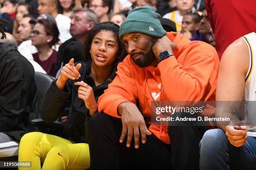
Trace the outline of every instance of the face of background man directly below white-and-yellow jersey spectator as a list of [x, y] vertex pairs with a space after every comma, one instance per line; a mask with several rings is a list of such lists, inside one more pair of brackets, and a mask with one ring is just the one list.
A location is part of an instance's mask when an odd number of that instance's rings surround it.
[[192, 16], [184, 15], [182, 20], [182, 32], [189, 31], [194, 33], [198, 29], [199, 23], [195, 23]]

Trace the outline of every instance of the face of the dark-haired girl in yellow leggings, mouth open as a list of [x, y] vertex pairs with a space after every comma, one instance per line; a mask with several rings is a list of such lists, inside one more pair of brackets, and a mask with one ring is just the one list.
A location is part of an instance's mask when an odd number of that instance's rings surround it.
[[91, 57], [92, 62], [98, 67], [112, 65], [118, 53], [118, 42], [115, 35], [110, 31], [102, 30], [92, 39]]

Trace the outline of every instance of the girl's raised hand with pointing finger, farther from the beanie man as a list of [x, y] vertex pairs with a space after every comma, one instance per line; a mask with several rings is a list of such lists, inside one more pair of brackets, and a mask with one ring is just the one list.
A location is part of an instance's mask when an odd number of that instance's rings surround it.
[[58, 80], [56, 81], [56, 85], [60, 90], [63, 90], [66, 81], [70, 78], [72, 80], [79, 79], [81, 76], [78, 70], [81, 68], [82, 64], [79, 63], [77, 66], [74, 66], [74, 58], [69, 60], [69, 63], [65, 64], [62, 67]]

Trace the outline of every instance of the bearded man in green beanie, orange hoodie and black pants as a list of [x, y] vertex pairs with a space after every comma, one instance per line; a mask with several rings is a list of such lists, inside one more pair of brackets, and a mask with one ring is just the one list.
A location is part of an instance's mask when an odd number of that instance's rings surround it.
[[198, 146], [207, 128], [153, 125], [151, 101], [215, 100], [218, 55], [205, 42], [166, 34], [159, 17], [143, 6], [120, 26], [129, 55], [89, 123], [92, 170], [199, 168]]

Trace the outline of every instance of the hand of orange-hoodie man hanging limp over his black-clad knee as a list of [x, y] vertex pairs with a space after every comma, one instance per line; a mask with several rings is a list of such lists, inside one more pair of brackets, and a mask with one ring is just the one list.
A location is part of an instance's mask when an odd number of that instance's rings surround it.
[[139, 148], [139, 140], [141, 133], [142, 143], [146, 143], [146, 135], [151, 135], [151, 132], [146, 127], [144, 117], [138, 110], [138, 107], [131, 102], [123, 102], [118, 106], [118, 112], [122, 115], [123, 130], [120, 137], [120, 143], [123, 143], [127, 135], [126, 146], [131, 146], [131, 140], [134, 136], [134, 146]]

